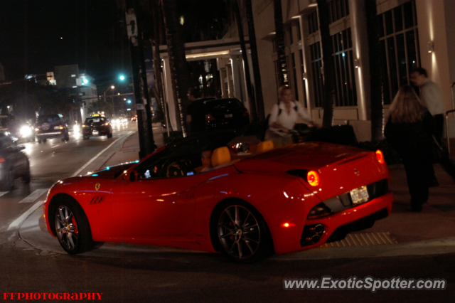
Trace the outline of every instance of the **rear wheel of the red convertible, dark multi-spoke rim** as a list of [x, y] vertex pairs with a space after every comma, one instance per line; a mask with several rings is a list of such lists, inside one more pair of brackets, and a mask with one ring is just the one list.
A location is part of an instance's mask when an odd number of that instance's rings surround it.
[[262, 216], [243, 201], [224, 203], [215, 213], [215, 240], [224, 255], [235, 262], [250, 263], [267, 257], [272, 238]]

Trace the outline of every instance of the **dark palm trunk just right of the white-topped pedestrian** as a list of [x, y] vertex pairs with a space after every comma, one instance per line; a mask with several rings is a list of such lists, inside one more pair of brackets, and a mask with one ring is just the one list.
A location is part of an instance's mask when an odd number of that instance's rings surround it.
[[323, 127], [333, 125], [333, 101], [335, 100], [335, 66], [332, 58], [332, 38], [328, 28], [328, 4], [327, 0], [317, 0], [319, 16], [319, 34], [321, 36], [322, 60], [323, 60]]

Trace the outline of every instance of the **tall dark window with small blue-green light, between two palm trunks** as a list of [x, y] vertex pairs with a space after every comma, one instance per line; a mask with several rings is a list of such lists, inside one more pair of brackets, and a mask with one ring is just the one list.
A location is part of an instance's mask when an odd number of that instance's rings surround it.
[[336, 106], [357, 105], [355, 90], [353, 43], [350, 28], [332, 36], [333, 60], [335, 63]]

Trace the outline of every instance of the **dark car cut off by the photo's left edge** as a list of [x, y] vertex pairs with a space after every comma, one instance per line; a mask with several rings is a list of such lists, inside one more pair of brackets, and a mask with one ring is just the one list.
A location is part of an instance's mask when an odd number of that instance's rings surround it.
[[9, 191], [14, 186], [14, 179], [22, 177], [30, 182], [30, 164], [23, 153], [23, 145], [16, 146], [11, 136], [0, 132], [0, 188]]

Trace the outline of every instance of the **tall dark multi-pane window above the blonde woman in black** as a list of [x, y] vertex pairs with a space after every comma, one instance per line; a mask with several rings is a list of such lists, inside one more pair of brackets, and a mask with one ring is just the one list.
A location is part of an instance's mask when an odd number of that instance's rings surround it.
[[417, 16], [414, 0], [378, 15], [384, 104], [389, 105], [410, 73], [420, 66]]

